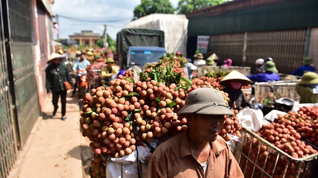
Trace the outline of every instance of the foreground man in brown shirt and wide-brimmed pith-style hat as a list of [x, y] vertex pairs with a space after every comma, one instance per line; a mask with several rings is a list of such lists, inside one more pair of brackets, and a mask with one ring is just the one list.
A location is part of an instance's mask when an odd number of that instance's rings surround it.
[[218, 135], [224, 115], [233, 114], [219, 91], [207, 87], [191, 91], [178, 112], [186, 117], [187, 129], [156, 148], [145, 177], [243, 178], [230, 147]]

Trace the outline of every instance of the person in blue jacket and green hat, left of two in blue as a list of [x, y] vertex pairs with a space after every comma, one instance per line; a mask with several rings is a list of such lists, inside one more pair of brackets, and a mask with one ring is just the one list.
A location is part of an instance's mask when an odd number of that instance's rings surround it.
[[267, 61], [263, 65], [265, 73], [256, 74], [251, 76], [246, 76], [254, 82], [269, 82], [269, 81], [279, 81], [278, 70], [276, 69], [275, 63], [273, 61]]

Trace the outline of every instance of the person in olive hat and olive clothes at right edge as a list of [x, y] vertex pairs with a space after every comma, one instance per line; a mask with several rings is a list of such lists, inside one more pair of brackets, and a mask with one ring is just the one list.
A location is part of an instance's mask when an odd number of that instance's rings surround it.
[[306, 72], [296, 85], [300, 103], [318, 103], [318, 75]]

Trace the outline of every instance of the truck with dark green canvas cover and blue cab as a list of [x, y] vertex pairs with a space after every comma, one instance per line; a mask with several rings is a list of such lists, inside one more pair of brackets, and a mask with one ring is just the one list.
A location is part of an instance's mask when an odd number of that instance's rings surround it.
[[158, 62], [166, 54], [164, 32], [146, 28], [124, 28], [117, 33], [117, 64], [127, 70]]

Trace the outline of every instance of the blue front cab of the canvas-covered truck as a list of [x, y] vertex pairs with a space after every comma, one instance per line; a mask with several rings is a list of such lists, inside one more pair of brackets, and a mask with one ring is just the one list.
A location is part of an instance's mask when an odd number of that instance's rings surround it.
[[142, 68], [146, 63], [158, 62], [159, 57], [166, 54], [164, 48], [134, 46], [127, 50], [127, 69], [138, 66]]

